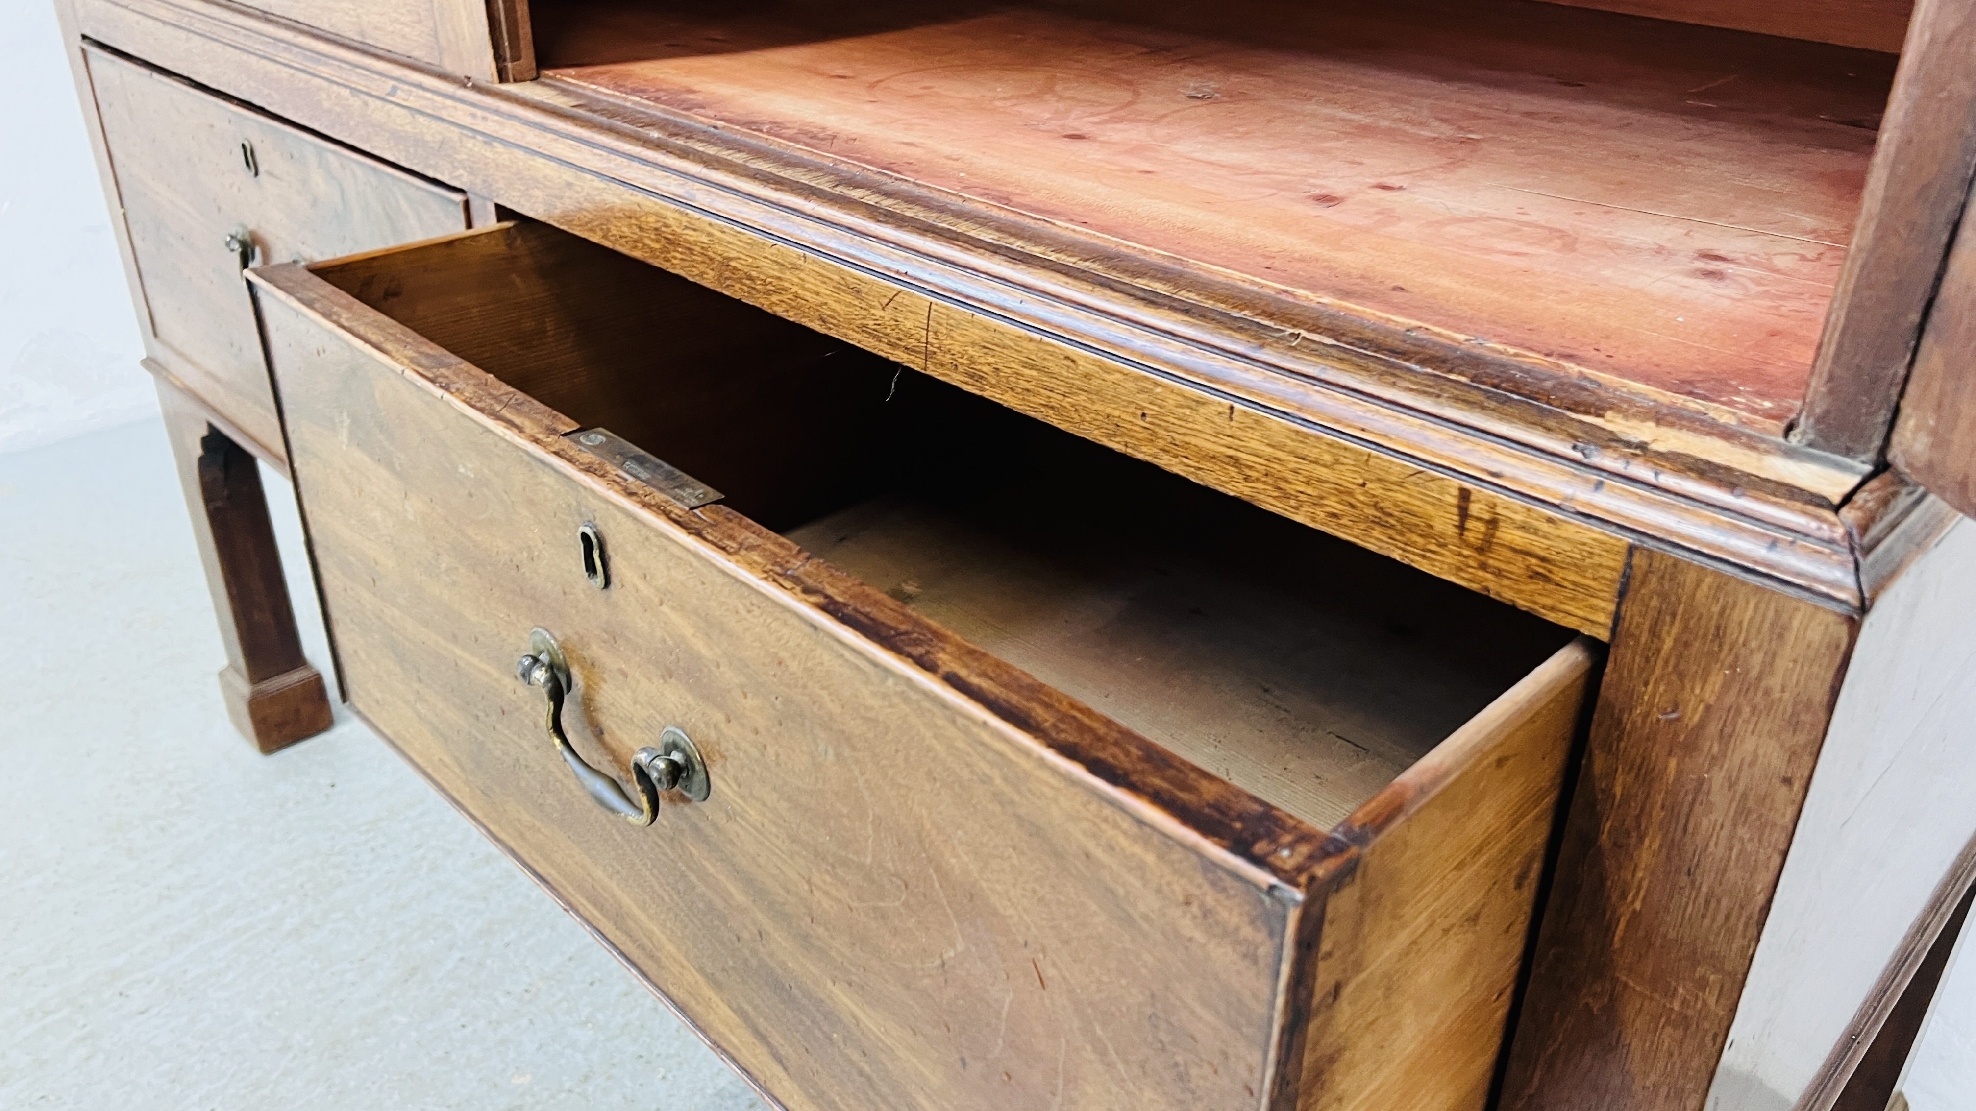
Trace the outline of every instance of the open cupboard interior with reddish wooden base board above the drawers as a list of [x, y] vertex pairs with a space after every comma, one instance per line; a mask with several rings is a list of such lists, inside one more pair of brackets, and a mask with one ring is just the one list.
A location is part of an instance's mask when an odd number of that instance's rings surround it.
[[1527, 0], [534, 0], [532, 24], [545, 77], [1071, 231], [1073, 261], [1782, 433], [1897, 61], [1806, 40], [1899, 43], [1907, 6], [1601, 6], [1804, 38]]

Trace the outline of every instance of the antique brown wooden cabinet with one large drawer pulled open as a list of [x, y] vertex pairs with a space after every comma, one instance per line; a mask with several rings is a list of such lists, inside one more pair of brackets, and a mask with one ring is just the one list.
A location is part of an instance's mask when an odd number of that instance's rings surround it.
[[328, 722], [259, 457], [352, 708], [767, 1097], [1885, 1103], [1970, 0], [59, 8], [235, 720]]

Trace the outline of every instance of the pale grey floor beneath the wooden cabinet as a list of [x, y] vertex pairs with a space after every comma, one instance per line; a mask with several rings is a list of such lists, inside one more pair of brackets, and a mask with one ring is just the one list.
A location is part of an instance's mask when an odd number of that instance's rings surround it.
[[[257, 755], [209, 605], [156, 421], [0, 453], [0, 1107], [763, 1107], [362, 724]], [[1905, 1093], [1976, 1111], [1976, 959]]]

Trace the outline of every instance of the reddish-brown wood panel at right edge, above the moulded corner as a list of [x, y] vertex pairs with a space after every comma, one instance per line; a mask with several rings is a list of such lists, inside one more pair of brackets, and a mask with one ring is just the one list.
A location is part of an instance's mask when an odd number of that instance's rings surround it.
[[1976, 219], [1962, 221], [1901, 395], [1889, 457], [1976, 516]]

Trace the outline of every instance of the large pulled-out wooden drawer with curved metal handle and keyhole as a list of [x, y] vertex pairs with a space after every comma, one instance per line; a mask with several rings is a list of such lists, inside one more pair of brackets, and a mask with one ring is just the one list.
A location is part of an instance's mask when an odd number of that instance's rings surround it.
[[543, 225], [251, 279], [352, 704], [775, 1099], [1484, 1105], [1593, 642]]

